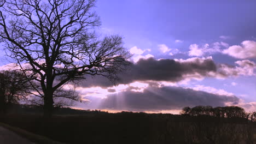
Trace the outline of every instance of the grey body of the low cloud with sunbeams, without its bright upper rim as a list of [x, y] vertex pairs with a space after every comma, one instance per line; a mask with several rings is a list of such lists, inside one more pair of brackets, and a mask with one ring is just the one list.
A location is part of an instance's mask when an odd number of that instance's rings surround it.
[[[90, 106], [85, 109], [108, 109], [127, 111], [160, 111], [182, 109], [185, 106], [224, 106], [238, 103], [235, 96], [217, 95], [182, 87], [148, 87], [144, 92], [125, 91], [107, 95], [107, 98], [88, 97]], [[95, 105], [94, 103], [97, 103]]]

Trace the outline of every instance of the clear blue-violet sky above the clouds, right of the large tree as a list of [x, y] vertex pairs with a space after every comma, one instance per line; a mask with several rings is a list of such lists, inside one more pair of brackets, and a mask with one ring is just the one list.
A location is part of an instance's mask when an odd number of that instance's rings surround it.
[[255, 37], [254, 5], [255, 1], [98, 1], [97, 13], [102, 27], [124, 35], [127, 45], [138, 45], [136, 38], [171, 46], [175, 39], [209, 43], [220, 35], [230, 35], [237, 40], [230, 44], [240, 44]]

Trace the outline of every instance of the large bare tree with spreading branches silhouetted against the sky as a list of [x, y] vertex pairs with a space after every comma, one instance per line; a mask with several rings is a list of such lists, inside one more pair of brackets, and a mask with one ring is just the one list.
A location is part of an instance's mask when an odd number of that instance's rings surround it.
[[115, 81], [129, 64], [119, 35], [99, 40], [94, 6], [95, 0], [13, 0], [0, 8], [0, 38], [7, 55], [40, 83], [34, 95], [43, 100], [46, 117], [52, 115], [54, 95], [63, 85], [86, 75]]

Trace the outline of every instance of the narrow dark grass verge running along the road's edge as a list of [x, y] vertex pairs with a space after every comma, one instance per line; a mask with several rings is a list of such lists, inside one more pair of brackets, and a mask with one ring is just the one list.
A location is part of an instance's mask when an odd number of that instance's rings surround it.
[[36, 142], [36, 143], [39, 143], [39, 144], [63, 144], [61, 142], [57, 142], [57, 141], [53, 141], [53, 140], [50, 140], [48, 139], [47, 137], [45, 136], [41, 136], [41, 135], [36, 135], [36, 134], [33, 134], [33, 133], [30, 133], [26, 130], [23, 130], [21, 128], [17, 128], [17, 127], [12, 127], [8, 124], [4, 124], [4, 123], [0, 123], [0, 126], [4, 127], [4, 128], [7, 128], [11, 131], [14, 131], [14, 133], [32, 141], [32, 142]]

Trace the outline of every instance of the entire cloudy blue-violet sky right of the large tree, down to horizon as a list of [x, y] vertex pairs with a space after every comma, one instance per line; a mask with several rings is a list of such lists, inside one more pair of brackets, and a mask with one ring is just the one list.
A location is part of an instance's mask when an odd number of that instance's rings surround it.
[[[178, 113], [185, 106], [256, 111], [256, 1], [97, 1], [101, 35], [119, 34], [132, 65], [117, 85], [88, 77], [77, 109]], [[3, 60], [1, 65], [8, 64]]]

